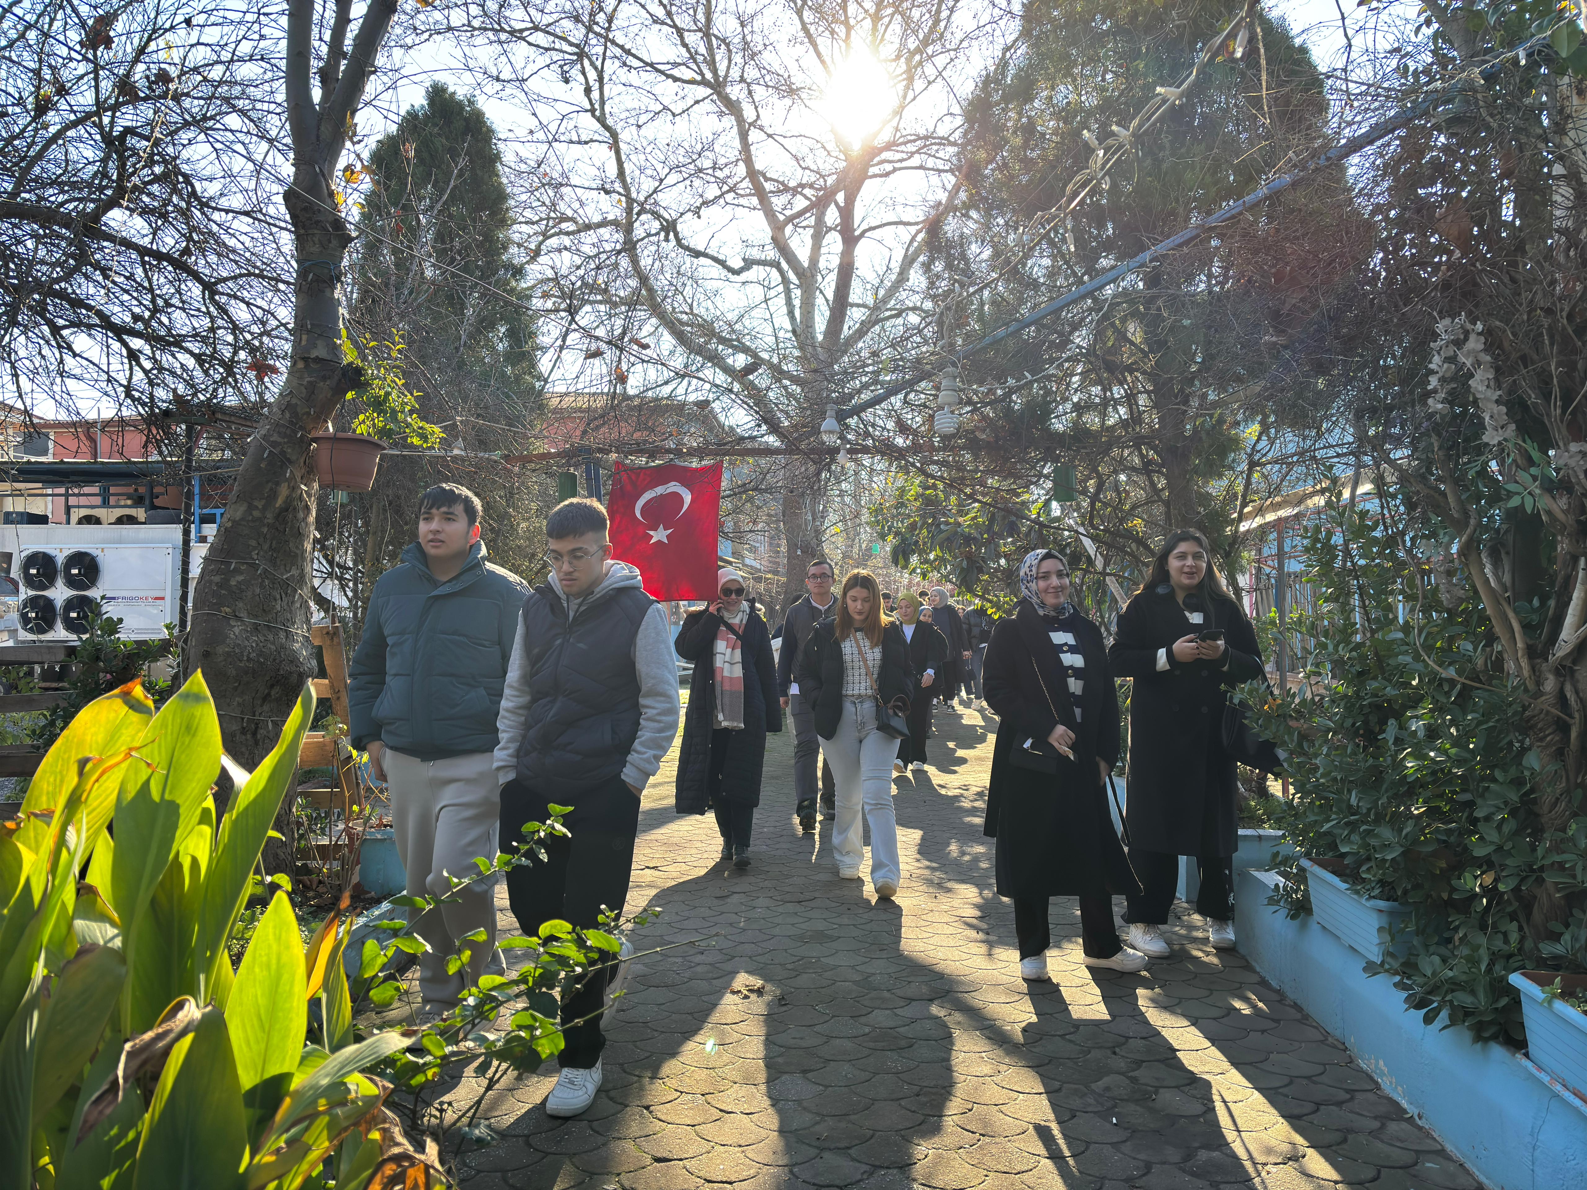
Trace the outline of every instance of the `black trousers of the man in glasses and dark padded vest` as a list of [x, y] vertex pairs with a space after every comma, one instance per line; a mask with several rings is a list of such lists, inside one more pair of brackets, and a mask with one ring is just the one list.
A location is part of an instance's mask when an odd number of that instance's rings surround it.
[[[533, 814], [522, 803], [533, 798], [519, 782], [501, 789], [501, 850], [517, 852], [524, 843], [522, 823]], [[541, 798], [544, 801], [544, 798]], [[506, 874], [506, 896], [517, 928], [536, 936], [544, 922], [562, 919], [581, 930], [600, 927], [601, 908], [622, 914], [633, 876], [633, 835], [584, 827], [571, 838], [554, 835], [544, 841], [546, 860]], [[562, 1054], [557, 1065], [589, 1069], [600, 1061], [606, 1038], [600, 1031], [606, 984], [617, 974], [617, 963], [589, 971], [582, 979], [568, 977], [562, 985]], [[589, 1017], [584, 1023], [571, 1022]]]

